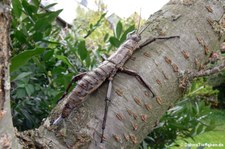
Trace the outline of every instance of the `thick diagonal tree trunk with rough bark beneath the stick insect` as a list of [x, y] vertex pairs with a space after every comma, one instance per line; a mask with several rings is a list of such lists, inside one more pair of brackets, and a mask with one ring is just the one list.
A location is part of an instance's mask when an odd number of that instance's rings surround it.
[[171, 0], [150, 16], [141, 42], [158, 36], [180, 38], [157, 40], [135, 52], [125, 65], [144, 77], [156, 97], [152, 98], [134, 77], [116, 75], [104, 143], [100, 143], [100, 136], [107, 83], [62, 123], [50, 125], [68, 100], [64, 99], [39, 129], [20, 133], [21, 141], [37, 148], [137, 148], [167, 109], [182, 97], [180, 87], [185, 84], [179, 83], [179, 72], [198, 71], [210, 52], [219, 49], [224, 40], [224, 6], [224, 0]]

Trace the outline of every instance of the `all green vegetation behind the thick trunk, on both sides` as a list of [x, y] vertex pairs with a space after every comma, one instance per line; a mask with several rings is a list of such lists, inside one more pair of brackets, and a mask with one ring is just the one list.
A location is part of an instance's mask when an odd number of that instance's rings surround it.
[[[73, 27], [61, 28], [55, 20], [62, 10], [48, 11], [55, 4], [41, 8], [40, 0], [13, 0], [12, 5], [11, 105], [13, 122], [19, 131], [38, 127], [72, 77], [96, 67], [104, 55], [110, 55], [137, 27], [139, 19], [134, 14], [111, 26], [105, 18], [106, 6], [99, 5], [99, 11], [85, 14], [79, 8], [80, 17]], [[224, 77], [225, 73], [221, 75]], [[224, 109], [212, 110], [224, 108], [221, 86], [217, 85], [216, 90], [206, 78], [195, 80], [140, 148], [179, 146], [182, 142], [177, 140], [192, 141], [196, 135], [214, 128], [224, 130], [225, 121], [218, 123], [225, 116]], [[212, 137], [221, 135], [210, 133]]]

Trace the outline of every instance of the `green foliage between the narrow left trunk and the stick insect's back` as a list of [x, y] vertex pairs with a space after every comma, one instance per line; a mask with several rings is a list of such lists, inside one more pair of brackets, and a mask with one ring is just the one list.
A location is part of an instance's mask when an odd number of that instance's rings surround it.
[[19, 130], [38, 127], [72, 77], [96, 67], [134, 29], [118, 22], [112, 31], [102, 11], [85, 14], [88, 19], [80, 15], [72, 29], [61, 29], [55, 24], [61, 10], [39, 5], [40, 0], [12, 2], [11, 105]]

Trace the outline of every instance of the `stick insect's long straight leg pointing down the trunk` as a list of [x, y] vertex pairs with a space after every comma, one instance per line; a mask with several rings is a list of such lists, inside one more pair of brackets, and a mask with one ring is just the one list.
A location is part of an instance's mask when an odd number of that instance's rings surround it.
[[107, 114], [108, 114], [108, 107], [109, 107], [109, 102], [111, 101], [111, 93], [112, 93], [112, 80], [113, 78], [109, 78], [109, 85], [108, 85], [108, 90], [105, 98], [105, 113], [103, 117], [103, 122], [102, 122], [102, 136], [101, 136], [101, 143], [103, 143], [104, 140], [104, 131], [105, 131], [105, 126], [106, 126], [106, 119], [107, 119]]

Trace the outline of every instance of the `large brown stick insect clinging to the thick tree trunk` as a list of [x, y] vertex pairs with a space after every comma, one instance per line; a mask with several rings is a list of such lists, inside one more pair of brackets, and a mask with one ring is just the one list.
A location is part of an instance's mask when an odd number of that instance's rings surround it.
[[87, 95], [94, 92], [103, 82], [108, 80], [109, 84], [105, 97], [105, 110], [102, 122], [102, 143], [104, 140], [104, 130], [106, 127], [109, 103], [111, 102], [112, 81], [117, 72], [126, 73], [128, 75], [136, 77], [137, 80], [152, 93], [152, 96], [155, 96], [155, 93], [152, 90], [151, 86], [145, 82], [142, 76], [140, 76], [137, 72], [133, 70], [124, 68], [123, 66], [135, 50], [140, 49], [158, 39], [171, 39], [177, 37], [179, 38], [179, 36], [156, 37], [147, 39], [143, 44], [139, 44], [139, 41], [141, 40], [141, 33], [148, 26], [149, 25], [146, 25], [146, 27], [140, 32], [138, 32], [138, 30], [135, 32], [131, 32], [128, 35], [127, 40], [117, 49], [117, 51], [112, 54], [107, 60], [104, 60], [97, 68], [90, 72], [78, 74], [72, 79], [71, 83], [68, 85], [65, 93], [60, 98], [60, 100], [67, 95], [69, 88], [71, 87], [73, 82], [78, 81], [77, 85], [73, 89], [71, 94], [68, 96], [68, 101], [64, 105], [61, 115], [53, 122], [53, 125], [56, 125], [62, 119], [67, 118], [74, 108], [77, 108], [82, 102], [85, 101]]

